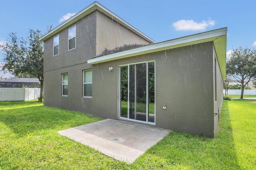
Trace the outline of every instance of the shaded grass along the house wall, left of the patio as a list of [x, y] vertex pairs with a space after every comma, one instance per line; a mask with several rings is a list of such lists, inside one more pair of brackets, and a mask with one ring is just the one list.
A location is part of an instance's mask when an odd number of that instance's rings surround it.
[[7, 105], [0, 107], [0, 121], [20, 137], [34, 131], [45, 129], [58, 131], [101, 120], [84, 113], [42, 106], [42, 103], [34, 101], [4, 103]]

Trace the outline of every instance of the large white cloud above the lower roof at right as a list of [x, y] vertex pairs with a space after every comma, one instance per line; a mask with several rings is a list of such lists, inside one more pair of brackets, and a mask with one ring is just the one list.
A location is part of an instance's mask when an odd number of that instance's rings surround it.
[[201, 21], [201, 22], [196, 22], [194, 20], [178, 20], [174, 22], [172, 25], [176, 30], [179, 31], [198, 31], [198, 30], [205, 30], [207, 27], [212, 27], [216, 24], [216, 21], [211, 20], [208, 18], [208, 21]]

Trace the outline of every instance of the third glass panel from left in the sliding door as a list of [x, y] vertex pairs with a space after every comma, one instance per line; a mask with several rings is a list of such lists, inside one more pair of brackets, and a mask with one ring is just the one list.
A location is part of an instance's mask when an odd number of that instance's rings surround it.
[[146, 63], [135, 64], [136, 67], [136, 115], [135, 119], [146, 121], [147, 113], [147, 68]]

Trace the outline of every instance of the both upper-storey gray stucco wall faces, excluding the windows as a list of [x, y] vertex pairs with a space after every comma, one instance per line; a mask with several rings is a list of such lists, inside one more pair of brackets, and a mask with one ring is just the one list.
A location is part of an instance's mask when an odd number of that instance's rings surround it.
[[[68, 51], [68, 29], [76, 25], [76, 48]], [[59, 55], [53, 56], [53, 37], [59, 35]], [[149, 44], [148, 41], [118, 24], [98, 10], [78, 20], [44, 41], [44, 71], [87, 63], [105, 48], [124, 44]]]

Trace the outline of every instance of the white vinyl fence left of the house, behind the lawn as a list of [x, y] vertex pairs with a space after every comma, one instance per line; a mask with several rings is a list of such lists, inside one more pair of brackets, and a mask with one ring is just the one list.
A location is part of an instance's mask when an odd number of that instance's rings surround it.
[[40, 96], [40, 88], [0, 88], [0, 101], [27, 101]]

